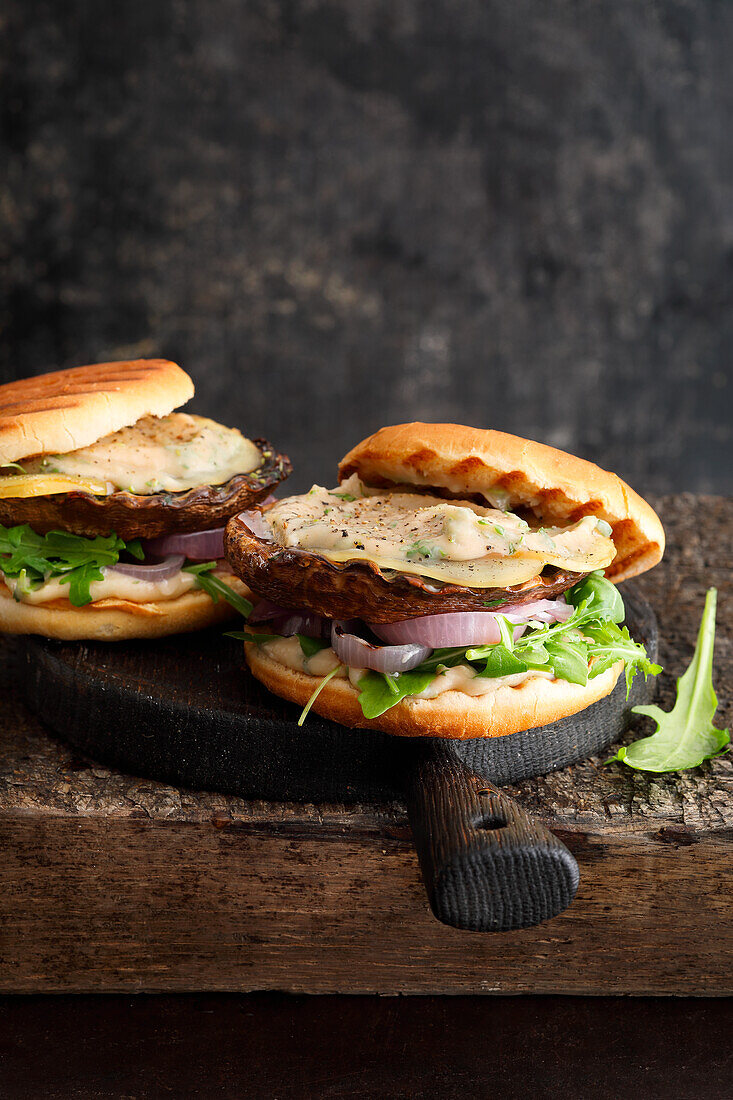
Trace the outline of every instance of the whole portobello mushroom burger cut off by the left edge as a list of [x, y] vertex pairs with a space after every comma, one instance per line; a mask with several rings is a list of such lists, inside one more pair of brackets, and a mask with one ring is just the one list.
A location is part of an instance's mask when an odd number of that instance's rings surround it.
[[161, 359], [0, 386], [0, 630], [116, 641], [251, 610], [225, 524], [289, 461], [174, 411], [193, 395]]

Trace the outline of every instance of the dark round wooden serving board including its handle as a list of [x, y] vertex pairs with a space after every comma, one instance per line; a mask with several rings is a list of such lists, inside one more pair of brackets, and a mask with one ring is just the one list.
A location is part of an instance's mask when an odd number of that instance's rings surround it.
[[[624, 586], [626, 625], [658, 656], [653, 608]], [[572, 902], [569, 849], [499, 788], [575, 763], [625, 733], [653, 697], [637, 676], [541, 728], [464, 741], [384, 736], [271, 696], [220, 630], [114, 646], [21, 638], [18, 681], [37, 717], [75, 748], [151, 779], [244, 798], [392, 799], [403, 791], [436, 917], [469, 932], [530, 927]], [[316, 716], [314, 715], [314, 719]]]

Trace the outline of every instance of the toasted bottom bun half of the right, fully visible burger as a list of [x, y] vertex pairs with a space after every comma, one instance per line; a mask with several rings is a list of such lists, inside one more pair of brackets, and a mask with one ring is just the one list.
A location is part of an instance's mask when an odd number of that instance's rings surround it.
[[[319, 683], [319, 676], [296, 672], [251, 642], [244, 646], [254, 676], [270, 691], [292, 703], [305, 706]], [[505, 737], [524, 729], [546, 726], [570, 714], [584, 711], [610, 695], [623, 669], [623, 661], [590, 680], [584, 686], [566, 680], [539, 676], [511, 685], [496, 682], [486, 695], [467, 695], [446, 691], [435, 698], [404, 698], [378, 718], [365, 718], [359, 705], [359, 692], [350, 680], [329, 680], [313, 704], [313, 711], [342, 726], [381, 729], [400, 737]]]

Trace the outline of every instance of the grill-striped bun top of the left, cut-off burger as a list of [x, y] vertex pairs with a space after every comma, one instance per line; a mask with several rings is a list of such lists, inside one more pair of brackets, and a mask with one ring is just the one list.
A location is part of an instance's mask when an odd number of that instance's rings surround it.
[[194, 383], [167, 359], [92, 363], [0, 386], [0, 465], [89, 447], [143, 416], [167, 416]]

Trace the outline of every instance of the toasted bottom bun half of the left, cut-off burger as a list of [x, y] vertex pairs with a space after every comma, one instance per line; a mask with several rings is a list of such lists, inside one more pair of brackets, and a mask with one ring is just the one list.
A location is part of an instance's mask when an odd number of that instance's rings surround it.
[[[239, 578], [227, 583], [244, 597], [250, 590]], [[129, 638], [163, 638], [168, 634], [201, 630], [232, 618], [237, 613], [225, 600], [214, 603], [200, 588], [175, 600], [135, 604], [129, 600], [99, 600], [75, 607], [67, 600], [50, 604], [24, 604], [0, 586], [0, 632], [40, 634], [63, 641], [125, 641]]]

